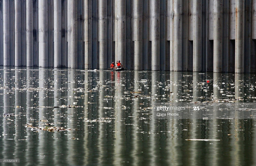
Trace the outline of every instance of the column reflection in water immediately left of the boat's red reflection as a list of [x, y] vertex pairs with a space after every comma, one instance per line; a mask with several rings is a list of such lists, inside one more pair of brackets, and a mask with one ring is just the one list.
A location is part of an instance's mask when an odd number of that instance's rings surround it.
[[[104, 96], [105, 96], [105, 92], [106, 90], [104, 89], [105, 85], [105, 72], [104, 71], [100, 71], [100, 91], [99, 91], [99, 109], [98, 109], [98, 118], [99, 120], [101, 120], [101, 118], [105, 117], [105, 110], [104, 107], [106, 107], [106, 100], [104, 101]], [[106, 110], [107, 111], [107, 110]], [[99, 157], [98, 157], [98, 163], [100, 165], [104, 165], [104, 163], [102, 163], [102, 161], [104, 161], [104, 159], [106, 159], [106, 157], [104, 156], [104, 153], [106, 152], [106, 149], [104, 149], [104, 143], [106, 143], [106, 123], [104, 122], [99, 122], [99, 127], [98, 127], [98, 132], [99, 132], [99, 141], [98, 141], [98, 145], [99, 145]]]

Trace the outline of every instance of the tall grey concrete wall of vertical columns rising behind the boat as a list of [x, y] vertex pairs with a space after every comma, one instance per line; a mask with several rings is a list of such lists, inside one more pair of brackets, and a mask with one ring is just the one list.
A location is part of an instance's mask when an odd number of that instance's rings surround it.
[[256, 72], [256, 0], [0, 0], [0, 65]]

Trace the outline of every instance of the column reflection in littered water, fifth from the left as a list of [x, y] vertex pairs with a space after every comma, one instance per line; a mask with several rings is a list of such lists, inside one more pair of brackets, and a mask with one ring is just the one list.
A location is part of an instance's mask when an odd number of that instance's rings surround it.
[[[54, 106], [61, 105], [61, 70], [54, 70]], [[54, 108], [54, 126], [60, 127], [61, 108]], [[54, 165], [60, 165], [61, 160], [61, 132], [54, 132]]]

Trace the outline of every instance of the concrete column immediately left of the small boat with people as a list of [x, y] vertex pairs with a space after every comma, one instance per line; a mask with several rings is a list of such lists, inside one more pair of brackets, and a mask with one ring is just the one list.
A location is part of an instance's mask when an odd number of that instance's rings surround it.
[[98, 1], [100, 69], [107, 68], [107, 1]]

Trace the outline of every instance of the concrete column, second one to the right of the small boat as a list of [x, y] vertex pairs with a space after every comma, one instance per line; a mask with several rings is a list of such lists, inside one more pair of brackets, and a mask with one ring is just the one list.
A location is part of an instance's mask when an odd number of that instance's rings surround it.
[[150, 1], [151, 18], [151, 70], [160, 70], [160, 1]]

